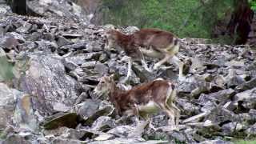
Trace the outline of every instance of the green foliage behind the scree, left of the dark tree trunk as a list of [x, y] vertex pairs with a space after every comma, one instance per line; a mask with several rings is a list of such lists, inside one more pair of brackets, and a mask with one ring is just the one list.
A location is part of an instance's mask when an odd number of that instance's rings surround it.
[[[204, 2], [204, 3], [202, 3]], [[219, 20], [232, 11], [234, 0], [103, 0], [104, 23], [155, 27], [179, 37], [211, 38]]]

